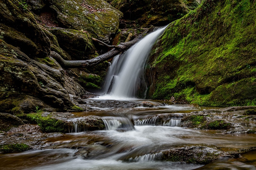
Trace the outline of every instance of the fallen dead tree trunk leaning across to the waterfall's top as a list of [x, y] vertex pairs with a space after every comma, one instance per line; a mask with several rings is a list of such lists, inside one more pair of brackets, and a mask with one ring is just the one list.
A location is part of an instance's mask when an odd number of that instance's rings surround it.
[[140, 34], [139, 36], [134, 38], [132, 41], [120, 43], [117, 47], [111, 49], [107, 53], [99, 55], [99, 56], [97, 56], [95, 58], [92, 58], [90, 60], [72, 60], [72, 61], [64, 60], [55, 51], [51, 51], [50, 56], [52, 58], [54, 58], [64, 68], [81, 68], [81, 67], [93, 66], [93, 65], [102, 63], [104, 61], [107, 61], [108, 59], [113, 58], [114, 56], [118, 55], [119, 53], [127, 50], [133, 44], [138, 42], [146, 33], [149, 33], [149, 32], [152, 32], [152, 31], [153, 31], [153, 28], [149, 28], [147, 31]]

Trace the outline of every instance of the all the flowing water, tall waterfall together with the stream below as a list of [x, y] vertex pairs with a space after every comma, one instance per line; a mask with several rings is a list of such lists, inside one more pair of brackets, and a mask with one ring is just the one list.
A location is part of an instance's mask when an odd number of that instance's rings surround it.
[[[160, 101], [135, 99], [148, 53], [164, 28], [143, 38], [124, 56], [116, 56], [109, 69], [105, 95], [86, 100], [94, 110], [74, 113], [73, 133], [47, 138], [43, 150], [0, 155], [1, 169], [34, 170], [186, 170], [204, 169], [201, 164], [162, 160], [170, 148], [193, 144], [213, 144], [232, 150], [255, 147], [255, 134], [216, 134], [214, 130], [183, 127], [183, 114], [210, 109], [191, 105], [168, 105]], [[145, 45], [146, 44], [146, 45]], [[141, 58], [140, 58], [141, 57]], [[150, 102], [154, 107], [143, 107]], [[79, 117], [97, 115], [103, 130], [86, 131]], [[78, 117], [78, 118], [77, 118]], [[75, 120], [75, 119], [74, 119]], [[248, 156], [249, 154], [249, 156]], [[255, 153], [248, 153], [249, 163], [225, 158], [206, 165], [206, 169], [255, 169]], [[233, 163], [232, 163], [233, 162]], [[237, 163], [239, 162], [239, 163]], [[224, 165], [224, 166], [223, 166]], [[243, 165], [243, 166], [241, 166]]]

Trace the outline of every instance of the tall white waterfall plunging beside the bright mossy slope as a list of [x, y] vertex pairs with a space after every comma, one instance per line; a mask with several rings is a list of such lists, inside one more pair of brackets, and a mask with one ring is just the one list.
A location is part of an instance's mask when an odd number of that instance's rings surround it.
[[108, 69], [102, 93], [110, 95], [111, 99], [135, 97], [138, 87], [145, 84], [145, 80], [140, 78], [144, 74], [150, 50], [166, 27], [148, 34], [123, 55], [114, 57]]

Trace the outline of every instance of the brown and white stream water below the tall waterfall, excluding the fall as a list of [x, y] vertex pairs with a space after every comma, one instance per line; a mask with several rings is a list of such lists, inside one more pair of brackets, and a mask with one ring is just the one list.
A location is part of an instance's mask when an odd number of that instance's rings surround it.
[[[180, 113], [212, 107], [163, 105], [154, 101], [158, 107], [131, 108], [131, 103], [141, 101], [108, 102], [112, 101], [88, 100], [88, 106], [94, 111], [74, 113], [77, 116], [101, 116], [107, 129], [48, 138], [43, 150], [2, 154], [0, 169], [255, 169], [256, 151], [243, 154], [238, 159], [223, 158], [206, 166], [160, 160], [162, 151], [183, 145], [213, 144], [225, 151], [256, 146], [255, 134], [220, 134], [216, 130], [178, 127]], [[108, 107], [110, 105], [112, 107]], [[156, 124], [159, 115], [168, 120]]]

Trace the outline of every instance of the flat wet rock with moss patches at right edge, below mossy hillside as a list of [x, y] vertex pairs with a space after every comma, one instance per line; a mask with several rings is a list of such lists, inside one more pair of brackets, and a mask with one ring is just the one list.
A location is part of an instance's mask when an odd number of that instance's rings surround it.
[[[220, 129], [223, 133], [255, 133], [254, 106], [226, 107], [184, 114], [183, 125], [197, 129]], [[251, 115], [252, 114], [252, 115]]]

